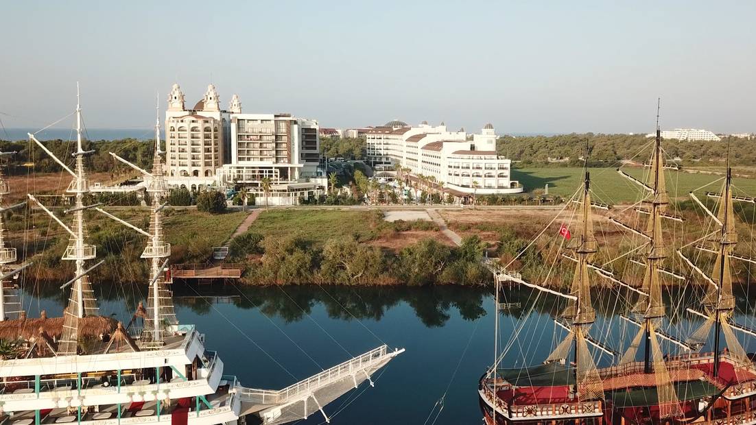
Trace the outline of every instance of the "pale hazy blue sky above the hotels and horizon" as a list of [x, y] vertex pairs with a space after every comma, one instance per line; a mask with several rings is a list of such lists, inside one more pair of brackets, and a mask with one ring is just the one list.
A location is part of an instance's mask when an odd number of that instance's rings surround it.
[[756, 131], [756, 2], [6, 2], [0, 115], [149, 128], [194, 105], [326, 127], [398, 118], [468, 131]]

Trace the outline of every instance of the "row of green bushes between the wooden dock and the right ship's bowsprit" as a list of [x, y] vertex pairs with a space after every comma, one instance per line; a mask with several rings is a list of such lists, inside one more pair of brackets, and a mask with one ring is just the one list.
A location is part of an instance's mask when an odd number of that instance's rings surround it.
[[481, 264], [485, 244], [477, 237], [450, 247], [422, 239], [401, 251], [352, 237], [329, 239], [322, 248], [302, 236], [263, 237], [247, 232], [231, 242], [231, 256], [246, 263], [243, 281], [256, 285], [487, 285]]

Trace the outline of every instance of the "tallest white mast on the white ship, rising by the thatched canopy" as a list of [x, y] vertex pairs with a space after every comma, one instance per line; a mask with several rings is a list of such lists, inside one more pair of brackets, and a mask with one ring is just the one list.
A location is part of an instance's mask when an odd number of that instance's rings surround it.
[[[60, 220], [55, 214], [53, 214], [45, 205], [42, 205], [33, 195], [29, 194], [29, 199], [39, 205], [45, 213], [50, 215], [61, 227], [63, 227], [70, 235], [70, 242], [66, 251], [63, 254], [63, 260], [70, 260], [76, 262], [76, 277], [74, 277], [66, 285], [61, 286], [63, 289], [67, 285], [73, 283], [71, 289], [71, 296], [69, 303], [64, 310], [64, 325], [63, 334], [60, 338], [60, 345], [57, 354], [60, 355], [76, 355], [79, 349], [79, 324], [83, 317], [91, 316], [98, 313], [97, 300], [92, 291], [91, 283], [87, 273], [94, 269], [84, 268], [84, 262], [95, 258], [96, 248], [95, 245], [88, 245], [86, 243], [86, 232], [84, 222], [84, 210], [93, 208], [96, 205], [84, 205], [84, 196], [89, 192], [89, 182], [84, 171], [84, 156], [91, 154], [94, 151], [85, 151], [82, 146], [82, 107], [79, 94], [79, 83], [76, 83], [76, 152], [73, 156], [76, 157], [76, 166], [74, 170], [71, 170], [63, 161], [54, 155], [49, 149], [45, 147], [39, 140], [36, 139], [34, 134], [29, 133], [29, 138], [33, 140], [42, 150], [44, 150], [55, 162], [60, 165], [64, 171], [73, 176], [73, 180], [66, 189], [66, 192], [73, 193], [74, 195], [74, 208], [70, 208], [64, 213], [73, 213], [73, 225], [71, 227], [66, 226], [63, 221]], [[102, 262], [101, 262], [102, 263]], [[101, 263], [98, 263], [101, 264]]]

